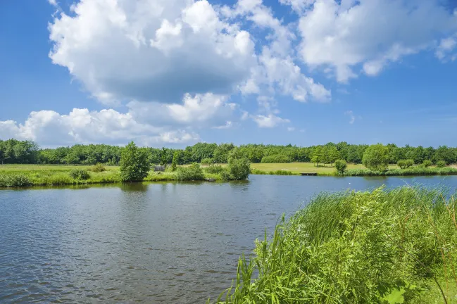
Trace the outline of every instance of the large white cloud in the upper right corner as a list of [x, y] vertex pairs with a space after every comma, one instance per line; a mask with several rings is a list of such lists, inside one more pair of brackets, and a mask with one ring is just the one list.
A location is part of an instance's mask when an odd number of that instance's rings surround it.
[[[312, 1], [282, 2], [297, 7]], [[432, 48], [457, 31], [457, 16], [439, 0], [316, 0], [302, 13], [299, 30], [303, 62], [330, 66], [346, 82], [357, 77], [358, 65], [377, 75], [388, 63]]]

